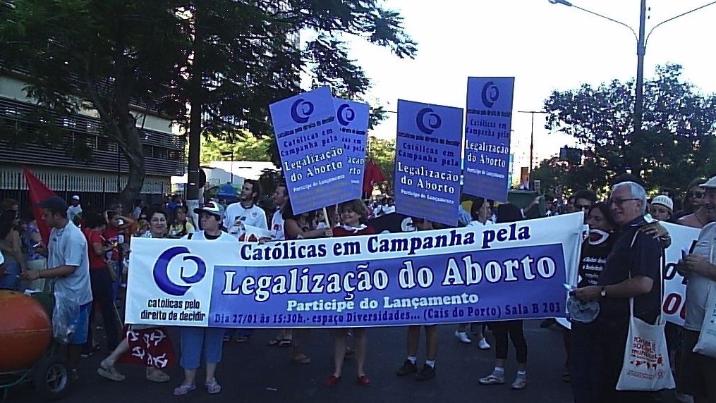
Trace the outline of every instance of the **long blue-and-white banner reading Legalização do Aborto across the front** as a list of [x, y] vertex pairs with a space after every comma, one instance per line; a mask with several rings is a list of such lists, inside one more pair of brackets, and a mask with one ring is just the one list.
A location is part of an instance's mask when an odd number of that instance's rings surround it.
[[374, 327], [563, 317], [582, 218], [240, 243], [132, 240], [126, 322]]

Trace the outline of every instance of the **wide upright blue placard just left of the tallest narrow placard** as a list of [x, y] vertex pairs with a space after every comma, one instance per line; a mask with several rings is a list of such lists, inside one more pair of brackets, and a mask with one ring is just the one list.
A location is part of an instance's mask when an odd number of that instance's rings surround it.
[[398, 100], [395, 211], [458, 224], [463, 109]]

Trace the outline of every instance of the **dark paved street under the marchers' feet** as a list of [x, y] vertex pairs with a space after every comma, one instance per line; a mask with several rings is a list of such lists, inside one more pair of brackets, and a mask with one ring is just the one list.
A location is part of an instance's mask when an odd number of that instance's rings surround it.
[[[455, 325], [440, 327], [440, 350], [437, 357], [437, 377], [416, 382], [412, 377], [397, 377], [395, 369], [405, 359], [405, 328], [370, 329], [367, 374], [371, 387], [354, 381], [355, 365], [347, 359], [344, 379], [332, 388], [324, 387], [324, 379], [332, 372], [329, 354], [329, 333], [325, 329], [311, 332], [308, 354], [314, 362], [300, 366], [289, 362], [290, 349], [267, 347], [273, 330], [260, 330], [246, 344], [225, 344], [223, 362], [217, 378], [223, 390], [208, 395], [197, 389], [185, 397], [174, 397], [173, 388], [182, 379], [180, 367], [170, 369], [168, 384], [145, 381], [139, 367], [120, 364], [120, 372], [127, 374], [125, 382], [112, 382], [97, 375], [96, 368], [105, 351], [81, 362], [81, 379], [64, 402], [72, 403], [155, 403], [155, 402], [544, 402], [571, 401], [569, 384], [561, 381], [564, 353], [561, 332], [553, 327], [541, 329], [538, 320], [526, 322], [529, 345], [528, 386], [521, 391], [509, 387], [515, 372], [513, 350], [508, 360], [505, 385], [483, 386], [479, 377], [493, 368], [494, 349], [480, 351], [475, 342], [461, 344], [453, 337]], [[424, 337], [424, 335], [423, 335]], [[490, 337], [488, 337], [491, 340]], [[175, 339], [178, 346], [178, 340]], [[424, 342], [424, 339], [421, 340]], [[421, 343], [419, 364], [425, 359]], [[200, 372], [198, 379], [203, 379]], [[42, 402], [32, 388], [14, 389], [9, 403]]]

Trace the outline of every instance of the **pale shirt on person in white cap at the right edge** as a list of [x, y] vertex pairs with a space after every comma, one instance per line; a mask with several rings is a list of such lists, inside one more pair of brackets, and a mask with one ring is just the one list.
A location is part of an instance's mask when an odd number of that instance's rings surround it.
[[[709, 223], [701, 229], [694, 253], [705, 257], [711, 264], [716, 264], [716, 223]], [[686, 319], [684, 329], [700, 332], [706, 313], [706, 299], [709, 295], [709, 284], [716, 287], [707, 277], [691, 274], [686, 285]]]

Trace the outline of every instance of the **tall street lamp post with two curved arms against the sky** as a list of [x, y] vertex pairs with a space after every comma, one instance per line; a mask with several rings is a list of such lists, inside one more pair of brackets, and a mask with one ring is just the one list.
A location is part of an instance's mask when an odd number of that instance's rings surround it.
[[636, 86], [637, 88], [634, 90], [634, 137], [639, 137], [642, 134], [642, 120], [644, 116], [644, 55], [647, 54], [647, 42], [649, 41], [649, 36], [652, 35], [652, 32], [654, 29], [657, 28], [657, 26], [660, 26], [664, 23], [667, 23], [669, 21], [673, 21], [674, 19], [679, 18], [680, 16], [685, 16], [687, 14], [691, 14], [694, 11], [698, 11], [700, 9], [703, 9], [707, 6], [711, 6], [712, 4], [716, 4], [716, 1], [712, 1], [710, 3], [704, 4], [702, 6], [698, 6], [695, 9], [691, 9], [689, 11], [684, 11], [682, 14], [678, 14], [676, 16], [672, 16], [669, 19], [665, 19], [664, 21], [659, 22], [659, 24], [656, 24], [652, 27], [651, 30], [649, 30], [648, 35], [644, 35], [645, 33], [645, 25], [647, 21], [647, 0], [641, 0], [641, 9], [639, 11], [639, 34], [637, 34], [634, 29], [632, 29], [631, 26], [624, 24], [621, 21], [617, 21], [616, 19], [609, 18], [608, 16], [603, 16], [599, 13], [596, 13], [594, 11], [583, 9], [580, 6], [575, 6], [574, 4], [571, 4], [570, 1], [567, 0], [549, 0], [551, 4], [562, 4], [563, 6], [568, 7], [574, 7], [575, 9], [579, 9], [581, 11], [585, 11], [586, 13], [592, 14], [594, 16], [598, 16], [602, 19], [609, 20], [611, 22], [614, 22], [616, 24], [619, 24], [621, 26], [626, 26], [629, 31], [632, 31], [632, 34], [634, 34], [634, 37], [637, 39], [637, 82]]

